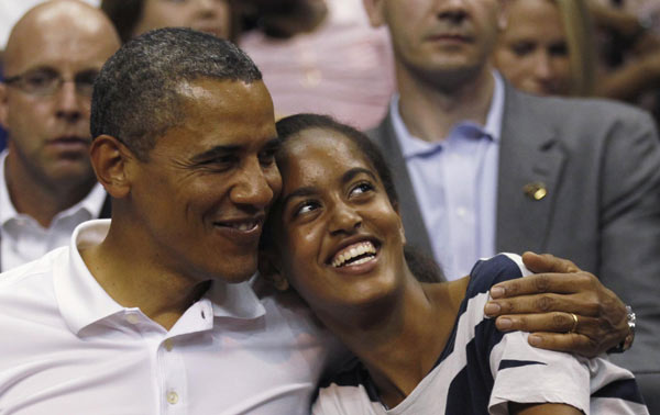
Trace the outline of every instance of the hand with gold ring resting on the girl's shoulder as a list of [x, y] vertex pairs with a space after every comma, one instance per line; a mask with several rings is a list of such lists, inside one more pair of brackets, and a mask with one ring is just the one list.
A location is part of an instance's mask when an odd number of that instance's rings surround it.
[[623, 344], [632, 333], [628, 311], [598, 279], [568, 259], [525, 253], [534, 276], [491, 289], [484, 312], [503, 332], [529, 332], [529, 344], [594, 357]]

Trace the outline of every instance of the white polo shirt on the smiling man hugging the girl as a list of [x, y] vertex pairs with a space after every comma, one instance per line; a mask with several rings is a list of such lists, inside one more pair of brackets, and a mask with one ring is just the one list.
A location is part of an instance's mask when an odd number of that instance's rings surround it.
[[0, 276], [0, 413], [308, 414], [337, 340], [292, 294], [215, 281], [169, 332], [114, 302], [78, 248]]

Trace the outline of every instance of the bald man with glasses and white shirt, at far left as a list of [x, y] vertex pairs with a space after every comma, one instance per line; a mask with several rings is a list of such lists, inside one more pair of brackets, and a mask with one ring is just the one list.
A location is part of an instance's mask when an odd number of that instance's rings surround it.
[[89, 162], [96, 75], [120, 45], [106, 15], [85, 3], [52, 1], [13, 27], [0, 83], [0, 269], [68, 244], [79, 223], [109, 203]]

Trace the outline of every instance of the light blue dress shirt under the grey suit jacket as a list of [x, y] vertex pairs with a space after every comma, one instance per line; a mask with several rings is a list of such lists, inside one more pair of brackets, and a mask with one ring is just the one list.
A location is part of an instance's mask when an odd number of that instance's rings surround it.
[[410, 135], [400, 117], [398, 96], [389, 104], [433, 256], [449, 280], [466, 276], [477, 259], [495, 255], [504, 81], [499, 74], [493, 76], [486, 125], [461, 122], [437, 142]]

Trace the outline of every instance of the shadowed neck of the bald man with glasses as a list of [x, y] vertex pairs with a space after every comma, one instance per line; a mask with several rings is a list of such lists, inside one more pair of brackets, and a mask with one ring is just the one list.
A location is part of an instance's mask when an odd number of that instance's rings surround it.
[[6, 159], [4, 179], [16, 212], [33, 217], [44, 228], [59, 212], [85, 199], [96, 184], [94, 176], [74, 182], [46, 181], [22, 168], [11, 154]]

